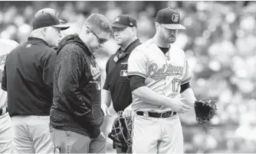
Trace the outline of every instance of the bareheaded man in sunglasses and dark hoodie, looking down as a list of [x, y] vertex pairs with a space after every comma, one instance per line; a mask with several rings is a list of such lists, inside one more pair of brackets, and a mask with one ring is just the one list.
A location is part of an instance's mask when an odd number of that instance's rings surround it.
[[61, 40], [54, 72], [54, 103], [50, 127], [55, 151], [94, 153], [106, 151], [100, 133], [100, 69], [94, 52], [110, 38], [111, 27], [102, 14], [91, 14], [80, 35]]

